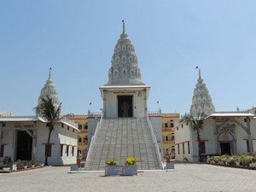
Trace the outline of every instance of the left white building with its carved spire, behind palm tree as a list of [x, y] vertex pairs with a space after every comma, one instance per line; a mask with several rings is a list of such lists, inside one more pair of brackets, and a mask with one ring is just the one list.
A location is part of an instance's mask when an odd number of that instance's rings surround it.
[[[38, 105], [42, 98], [50, 98], [55, 108], [58, 108], [57, 91], [49, 70], [49, 79], [44, 84], [38, 98]], [[62, 116], [55, 122], [55, 129], [51, 132], [48, 154], [46, 144], [49, 128], [47, 119], [36, 116], [0, 116], [0, 160], [5, 155], [12, 160], [36, 160], [44, 163], [48, 156], [51, 166], [75, 164], [78, 151], [78, 125], [67, 116]]]

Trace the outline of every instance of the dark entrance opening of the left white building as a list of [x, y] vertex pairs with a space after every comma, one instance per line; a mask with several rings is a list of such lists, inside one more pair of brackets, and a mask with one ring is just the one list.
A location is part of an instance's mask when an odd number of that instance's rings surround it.
[[32, 137], [26, 131], [18, 131], [16, 160], [32, 160]]

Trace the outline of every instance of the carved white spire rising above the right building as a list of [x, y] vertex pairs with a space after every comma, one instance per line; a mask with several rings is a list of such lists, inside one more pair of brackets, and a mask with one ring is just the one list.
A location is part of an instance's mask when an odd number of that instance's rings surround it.
[[197, 79], [197, 84], [195, 84], [190, 114], [194, 117], [198, 117], [201, 116], [201, 113], [209, 115], [214, 111], [215, 108], [212, 104], [212, 98], [207, 90], [207, 85], [204, 84], [203, 79], [201, 79], [201, 70], [199, 69], [199, 78]]

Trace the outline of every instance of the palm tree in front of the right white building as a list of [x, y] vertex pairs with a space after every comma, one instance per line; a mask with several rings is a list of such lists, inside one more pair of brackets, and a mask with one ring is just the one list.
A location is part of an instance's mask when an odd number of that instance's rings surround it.
[[201, 143], [201, 130], [203, 129], [204, 119], [206, 117], [205, 113], [198, 113], [197, 117], [193, 117], [192, 115], [185, 115], [183, 120], [189, 123], [189, 126], [192, 130], [196, 131], [197, 144], [198, 144], [198, 156], [199, 162], [202, 161], [202, 143]]

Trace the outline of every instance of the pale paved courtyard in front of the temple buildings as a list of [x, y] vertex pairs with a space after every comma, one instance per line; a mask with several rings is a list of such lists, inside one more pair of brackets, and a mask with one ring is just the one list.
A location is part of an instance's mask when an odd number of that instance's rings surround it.
[[0, 174], [0, 191], [253, 191], [256, 171], [177, 164], [175, 172], [139, 172], [137, 177], [103, 177], [103, 172], [67, 173], [69, 167]]

